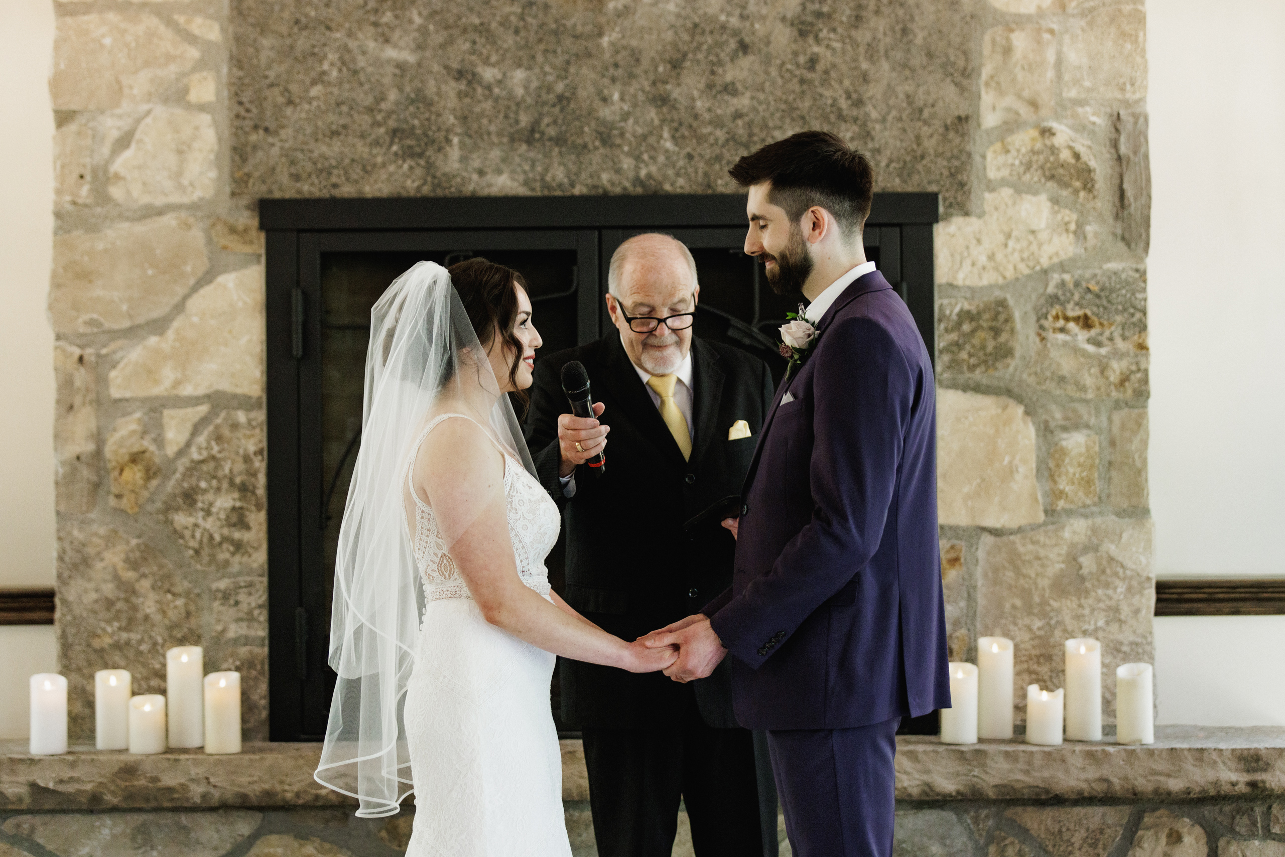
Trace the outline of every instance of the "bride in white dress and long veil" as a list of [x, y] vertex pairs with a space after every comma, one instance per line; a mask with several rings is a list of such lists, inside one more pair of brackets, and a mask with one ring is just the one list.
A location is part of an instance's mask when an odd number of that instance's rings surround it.
[[549, 588], [558, 508], [508, 396], [526, 396], [540, 346], [522, 276], [482, 258], [419, 262], [371, 310], [315, 776], [365, 817], [414, 791], [411, 857], [571, 854], [554, 655], [631, 672], [676, 658]]

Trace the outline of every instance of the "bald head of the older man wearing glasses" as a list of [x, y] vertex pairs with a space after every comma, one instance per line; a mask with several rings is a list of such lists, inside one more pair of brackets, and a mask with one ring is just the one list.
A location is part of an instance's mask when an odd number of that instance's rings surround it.
[[691, 251], [671, 235], [635, 235], [612, 254], [607, 284], [607, 310], [630, 360], [653, 375], [672, 373], [691, 347], [690, 317], [684, 320], [689, 326], [678, 330], [662, 324], [637, 331], [626, 316], [667, 319], [694, 312], [700, 287]]

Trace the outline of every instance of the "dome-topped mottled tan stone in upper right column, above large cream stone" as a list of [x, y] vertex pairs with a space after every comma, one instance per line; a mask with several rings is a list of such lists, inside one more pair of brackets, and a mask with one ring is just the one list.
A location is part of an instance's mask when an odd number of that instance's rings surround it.
[[1052, 122], [1014, 134], [987, 149], [986, 176], [1049, 185], [1085, 202], [1097, 199], [1094, 145]]

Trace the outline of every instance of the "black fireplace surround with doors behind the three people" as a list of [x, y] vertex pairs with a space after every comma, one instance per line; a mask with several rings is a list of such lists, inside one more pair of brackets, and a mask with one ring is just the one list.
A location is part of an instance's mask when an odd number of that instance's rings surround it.
[[[908, 305], [929, 353], [937, 217], [934, 193], [875, 194], [865, 231], [867, 257]], [[610, 324], [603, 296], [616, 248], [637, 233], [668, 233], [696, 260], [696, 335], [759, 355], [777, 378], [784, 361], [775, 329], [801, 299], [774, 294], [743, 253], [743, 195], [263, 199], [260, 226], [267, 239], [274, 741], [325, 732], [334, 546], [360, 443], [369, 311], [397, 274], [419, 260], [469, 256], [517, 269], [531, 287], [542, 352], [553, 353], [599, 338]], [[560, 545], [549, 569], [558, 587]]]

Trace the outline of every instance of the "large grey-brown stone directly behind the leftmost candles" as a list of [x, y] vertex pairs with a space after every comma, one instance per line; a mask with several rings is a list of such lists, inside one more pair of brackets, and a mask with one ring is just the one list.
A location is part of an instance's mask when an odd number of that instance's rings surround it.
[[200, 645], [198, 597], [146, 542], [100, 527], [59, 526], [58, 649], [68, 732], [94, 735], [94, 671], [128, 669], [135, 694], [164, 693], [164, 653]]

